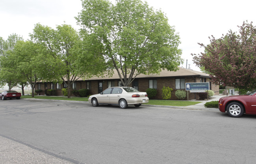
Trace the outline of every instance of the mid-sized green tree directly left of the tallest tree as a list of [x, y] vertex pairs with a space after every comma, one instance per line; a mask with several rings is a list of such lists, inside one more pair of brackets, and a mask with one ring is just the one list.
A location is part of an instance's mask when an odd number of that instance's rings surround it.
[[[93, 66], [96, 58], [90, 59], [83, 51], [83, 41], [78, 32], [70, 25], [63, 24], [52, 29], [48, 26], [36, 24], [32, 40], [43, 45], [51, 58], [54, 66], [41, 70], [42, 72], [53, 72], [56, 78], [61, 79], [68, 88], [68, 97], [71, 96], [72, 84], [80, 77], [89, 77], [97, 72], [98, 67]], [[89, 57], [88, 57], [89, 56]], [[88, 57], [88, 58], [87, 58]], [[81, 64], [83, 63], [83, 64]]]

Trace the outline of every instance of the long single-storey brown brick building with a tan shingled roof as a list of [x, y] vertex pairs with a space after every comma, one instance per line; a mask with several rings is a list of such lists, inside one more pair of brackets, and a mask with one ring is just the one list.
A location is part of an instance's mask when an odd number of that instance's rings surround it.
[[[210, 76], [206, 73], [202, 73], [199, 71], [193, 71], [190, 69], [185, 69], [179, 67], [178, 71], [167, 71], [162, 70], [159, 75], [151, 74], [151, 75], [138, 75], [135, 80], [130, 84], [131, 87], [139, 91], [146, 91], [148, 88], [155, 88], [157, 89], [157, 95], [154, 97], [155, 99], [162, 99], [162, 91], [161, 89], [163, 86], [173, 88], [172, 91], [172, 100], [177, 100], [175, 96], [175, 91], [178, 89], [185, 90], [185, 83], [191, 82], [210, 82], [210, 89], [214, 91], [215, 95], [219, 95], [219, 86], [212, 84]], [[79, 90], [79, 89], [89, 89], [90, 94], [97, 94], [108, 87], [113, 86], [121, 86], [121, 81], [119, 76], [117, 75], [116, 71], [112, 77], [93, 77], [89, 79], [78, 79], [76, 82], [73, 83], [72, 89]], [[42, 89], [45, 91], [46, 89], [56, 89], [57, 95], [62, 95], [61, 89], [64, 88], [64, 83], [62, 84], [54, 84], [54, 83], [38, 83], [35, 86], [35, 89]], [[43, 94], [45, 94], [43, 92]], [[197, 93], [189, 93], [189, 100], [197, 99]], [[186, 98], [187, 99], [187, 98]]]

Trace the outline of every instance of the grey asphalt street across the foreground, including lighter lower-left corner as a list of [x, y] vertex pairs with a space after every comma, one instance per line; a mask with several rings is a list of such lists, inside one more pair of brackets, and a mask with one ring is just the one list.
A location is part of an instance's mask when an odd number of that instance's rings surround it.
[[0, 163], [256, 161], [256, 116], [49, 100], [0, 103]]

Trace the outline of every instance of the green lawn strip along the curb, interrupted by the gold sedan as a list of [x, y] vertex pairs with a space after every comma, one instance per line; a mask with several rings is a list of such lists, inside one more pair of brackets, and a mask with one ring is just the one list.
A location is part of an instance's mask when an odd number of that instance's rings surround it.
[[[35, 96], [25, 95], [21, 98], [40, 98], [40, 99], [50, 99], [50, 100], [72, 100], [72, 101], [88, 101], [88, 97], [56, 97], [56, 96]], [[163, 105], [163, 106], [190, 106], [195, 105], [200, 102], [198, 101], [181, 101], [181, 100], [149, 100], [148, 105]]]

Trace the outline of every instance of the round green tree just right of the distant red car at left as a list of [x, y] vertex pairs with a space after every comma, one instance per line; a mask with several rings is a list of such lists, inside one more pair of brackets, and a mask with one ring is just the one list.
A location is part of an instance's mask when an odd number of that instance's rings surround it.
[[[54, 65], [47, 59], [50, 56], [46, 53], [44, 47], [31, 41], [18, 41], [13, 52], [7, 56], [7, 60], [12, 61], [11, 70], [19, 75], [21, 84], [28, 82], [32, 88], [32, 97], [34, 97], [35, 85], [39, 81], [54, 81], [53, 73], [47, 73], [47, 68]], [[46, 68], [46, 69], [45, 69]], [[45, 69], [46, 72], [42, 72]]]

